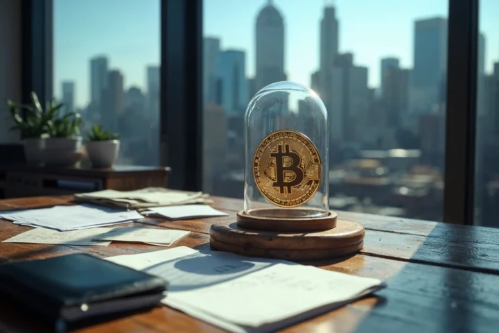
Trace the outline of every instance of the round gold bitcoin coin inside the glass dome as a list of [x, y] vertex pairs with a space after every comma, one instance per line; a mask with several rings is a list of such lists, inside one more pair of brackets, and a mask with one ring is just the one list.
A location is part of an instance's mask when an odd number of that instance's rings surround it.
[[308, 137], [293, 130], [278, 130], [256, 148], [253, 176], [256, 187], [271, 203], [297, 207], [319, 189], [321, 159]]

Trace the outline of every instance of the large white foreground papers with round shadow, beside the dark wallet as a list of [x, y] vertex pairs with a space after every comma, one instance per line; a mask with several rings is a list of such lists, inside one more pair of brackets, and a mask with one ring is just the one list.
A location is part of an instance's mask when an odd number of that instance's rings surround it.
[[384, 287], [284, 260], [183, 246], [108, 259], [167, 279], [164, 304], [231, 332], [273, 332]]

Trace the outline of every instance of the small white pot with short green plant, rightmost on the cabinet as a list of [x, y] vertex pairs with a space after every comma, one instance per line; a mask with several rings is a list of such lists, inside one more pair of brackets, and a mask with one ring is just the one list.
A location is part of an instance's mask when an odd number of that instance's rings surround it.
[[119, 135], [94, 124], [87, 134], [87, 154], [93, 167], [109, 168], [118, 157]]

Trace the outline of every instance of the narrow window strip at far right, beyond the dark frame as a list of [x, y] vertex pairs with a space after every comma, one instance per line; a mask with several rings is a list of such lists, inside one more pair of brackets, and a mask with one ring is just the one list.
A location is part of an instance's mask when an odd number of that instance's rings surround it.
[[477, 73], [475, 223], [497, 226], [499, 216], [499, 3], [480, 1]]

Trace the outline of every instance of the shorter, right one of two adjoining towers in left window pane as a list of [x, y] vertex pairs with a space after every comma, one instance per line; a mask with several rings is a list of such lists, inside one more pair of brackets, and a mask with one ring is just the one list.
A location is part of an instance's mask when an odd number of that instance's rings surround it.
[[103, 125], [117, 130], [117, 117], [125, 112], [125, 92], [123, 90], [123, 74], [117, 69], [107, 74], [107, 88], [104, 90], [100, 105]]

